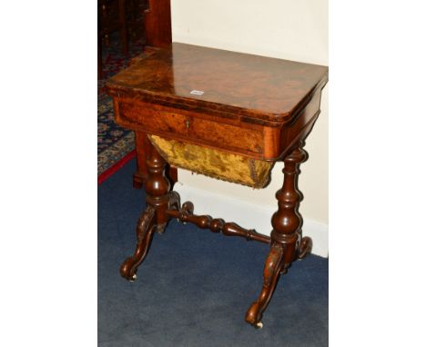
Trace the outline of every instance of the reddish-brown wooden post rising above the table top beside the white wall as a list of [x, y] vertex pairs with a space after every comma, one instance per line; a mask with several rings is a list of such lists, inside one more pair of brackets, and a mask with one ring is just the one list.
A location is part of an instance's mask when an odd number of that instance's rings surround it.
[[148, 0], [145, 35], [147, 45], [167, 47], [171, 44], [170, 0]]

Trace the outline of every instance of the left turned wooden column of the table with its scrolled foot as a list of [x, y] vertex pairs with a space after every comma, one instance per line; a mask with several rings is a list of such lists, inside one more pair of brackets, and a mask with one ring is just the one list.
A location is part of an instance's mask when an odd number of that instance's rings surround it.
[[152, 148], [147, 159], [146, 182], [147, 209], [137, 222], [137, 247], [133, 256], [121, 265], [120, 273], [127, 280], [135, 280], [137, 267], [147, 256], [153, 233], [163, 233], [169, 217], [167, 208], [179, 207], [177, 193], [170, 192], [170, 183], [165, 175], [166, 161]]

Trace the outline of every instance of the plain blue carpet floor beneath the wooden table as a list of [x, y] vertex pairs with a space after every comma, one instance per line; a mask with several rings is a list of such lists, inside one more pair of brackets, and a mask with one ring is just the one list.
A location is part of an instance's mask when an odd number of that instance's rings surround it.
[[329, 262], [315, 255], [281, 276], [261, 330], [244, 315], [261, 289], [267, 244], [172, 221], [154, 235], [137, 281], [124, 280], [119, 266], [145, 206], [135, 170], [133, 160], [98, 187], [99, 346], [328, 345]]

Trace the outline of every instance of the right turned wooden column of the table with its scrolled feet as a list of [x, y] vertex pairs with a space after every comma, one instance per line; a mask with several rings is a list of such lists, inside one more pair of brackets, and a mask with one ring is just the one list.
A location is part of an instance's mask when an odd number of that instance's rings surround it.
[[[273, 230], [270, 234], [270, 250], [263, 271], [262, 291], [246, 313], [246, 322], [257, 328], [262, 327], [262, 314], [268, 307], [272, 293], [279, 280], [279, 273], [286, 273], [289, 265], [298, 256], [309, 252], [311, 241], [301, 239], [302, 217], [298, 212], [302, 195], [298, 190], [299, 164], [307, 158], [300, 144], [284, 160], [284, 183], [276, 193], [279, 209], [272, 216]], [[300, 246], [300, 244], [302, 246]]]

